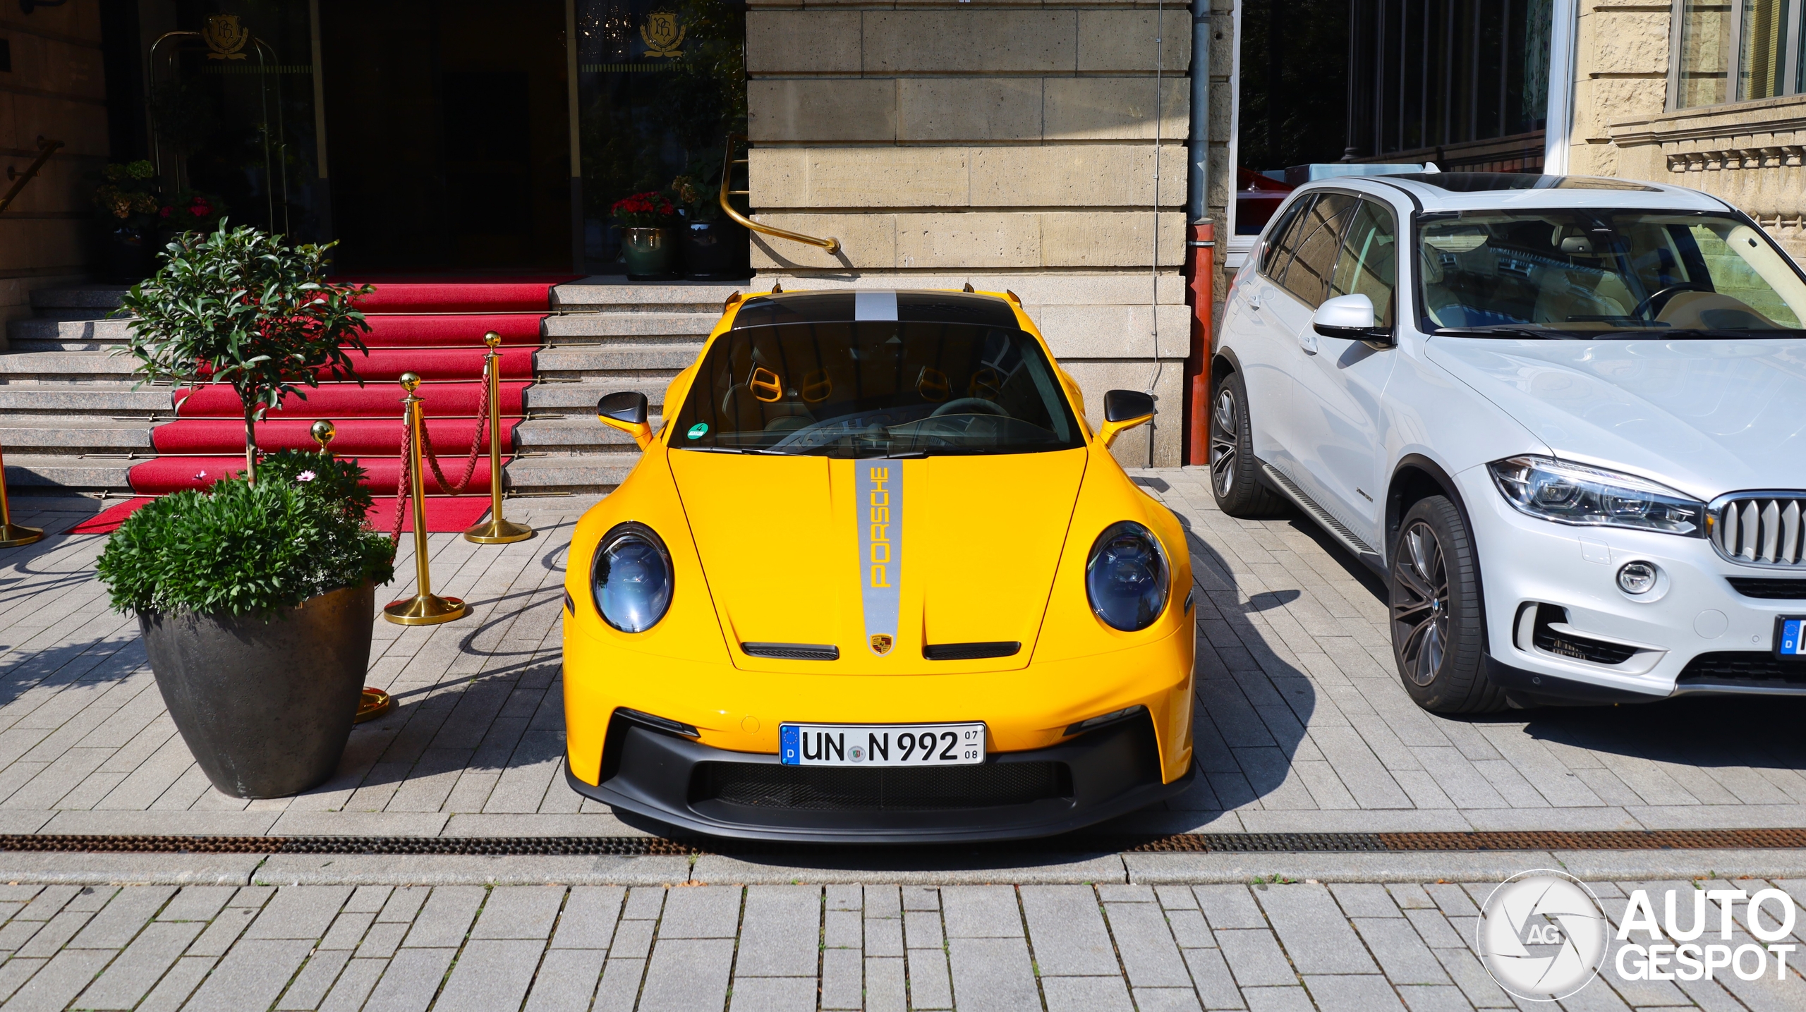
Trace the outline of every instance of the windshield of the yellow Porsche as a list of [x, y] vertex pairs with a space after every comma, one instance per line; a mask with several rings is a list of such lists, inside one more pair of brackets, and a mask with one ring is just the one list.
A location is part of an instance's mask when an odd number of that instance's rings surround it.
[[930, 456], [1084, 446], [1040, 345], [972, 323], [791, 323], [722, 334], [670, 446]]

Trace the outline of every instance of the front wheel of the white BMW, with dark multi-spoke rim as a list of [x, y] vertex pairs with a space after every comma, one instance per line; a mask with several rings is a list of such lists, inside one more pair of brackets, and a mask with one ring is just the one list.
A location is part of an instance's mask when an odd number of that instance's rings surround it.
[[1398, 525], [1387, 566], [1392, 657], [1405, 691], [1430, 713], [1506, 709], [1486, 678], [1479, 561], [1447, 496], [1418, 500]]

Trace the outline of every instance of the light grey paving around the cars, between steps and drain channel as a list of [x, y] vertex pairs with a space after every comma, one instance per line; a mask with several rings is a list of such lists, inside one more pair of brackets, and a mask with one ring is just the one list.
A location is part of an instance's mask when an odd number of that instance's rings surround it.
[[[1441, 718], [1392, 669], [1378, 581], [1302, 518], [1217, 512], [1199, 471], [1138, 471], [1188, 523], [1199, 603], [1199, 783], [1111, 828], [1609, 830], [1806, 824], [1802, 700]], [[92, 500], [14, 500], [67, 530]], [[471, 619], [376, 622], [370, 684], [397, 709], [338, 777], [238, 801], [195, 767], [135, 622], [92, 579], [103, 536], [0, 552], [0, 832], [638, 833], [565, 788], [560, 583], [589, 500], [513, 500], [540, 536], [432, 538], [433, 586]], [[412, 593], [403, 543], [386, 597]], [[656, 830], [656, 826], [650, 826]]]

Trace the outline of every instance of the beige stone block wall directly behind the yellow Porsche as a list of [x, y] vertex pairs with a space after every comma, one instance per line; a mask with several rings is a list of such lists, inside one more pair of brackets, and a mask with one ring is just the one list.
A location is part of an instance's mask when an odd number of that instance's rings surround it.
[[[1221, 220], [1228, 2], [1215, 22]], [[1093, 422], [1103, 390], [1152, 386], [1158, 424], [1118, 456], [1178, 464], [1190, 41], [1183, 4], [751, 0], [755, 218], [842, 244], [755, 235], [753, 265], [786, 289], [1015, 290]]]

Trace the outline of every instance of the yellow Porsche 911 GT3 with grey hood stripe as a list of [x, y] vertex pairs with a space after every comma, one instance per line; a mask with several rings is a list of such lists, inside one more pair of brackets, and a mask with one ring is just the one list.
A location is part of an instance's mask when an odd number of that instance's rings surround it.
[[1033, 837], [1192, 779], [1192, 565], [1015, 296], [728, 299], [601, 420], [645, 451], [565, 579], [567, 779], [726, 837]]

